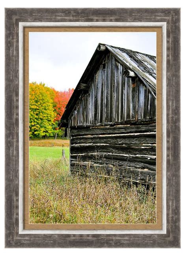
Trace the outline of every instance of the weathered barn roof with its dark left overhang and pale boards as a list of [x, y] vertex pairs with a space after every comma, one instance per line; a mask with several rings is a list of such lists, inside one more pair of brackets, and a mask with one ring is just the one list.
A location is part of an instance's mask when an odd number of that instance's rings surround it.
[[[96, 68], [101, 64], [103, 57], [106, 54], [106, 51], [99, 51], [100, 47], [104, 46], [107, 49], [107, 52], [110, 51], [115, 58], [127, 69], [133, 70], [138, 77], [144, 82], [144, 84], [149, 88], [151, 93], [156, 97], [156, 57], [148, 55], [145, 53], [139, 53], [137, 51], [132, 51], [129, 49], [124, 49], [120, 47], [115, 47], [112, 45], [107, 45], [99, 43], [94, 55], [92, 56], [86, 70], [82, 74], [80, 81], [75, 88], [69, 102], [66, 105], [64, 114], [61, 117], [60, 124], [67, 122], [71, 111], [79, 99], [81, 90], [79, 90], [80, 83], [87, 83], [90, 74], [93, 74]], [[60, 125], [59, 124], [59, 125]]]

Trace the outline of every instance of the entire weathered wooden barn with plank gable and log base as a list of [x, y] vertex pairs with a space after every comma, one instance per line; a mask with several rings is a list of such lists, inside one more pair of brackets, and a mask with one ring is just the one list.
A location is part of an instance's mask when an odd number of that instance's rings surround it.
[[70, 132], [70, 170], [105, 168], [156, 181], [156, 57], [97, 46], [60, 121]]

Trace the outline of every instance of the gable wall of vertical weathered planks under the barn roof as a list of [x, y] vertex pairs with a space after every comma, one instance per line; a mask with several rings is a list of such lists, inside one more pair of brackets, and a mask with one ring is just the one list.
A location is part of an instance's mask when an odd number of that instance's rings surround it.
[[69, 126], [125, 124], [156, 117], [155, 97], [138, 77], [125, 77], [125, 67], [111, 53], [88, 81], [69, 118]]

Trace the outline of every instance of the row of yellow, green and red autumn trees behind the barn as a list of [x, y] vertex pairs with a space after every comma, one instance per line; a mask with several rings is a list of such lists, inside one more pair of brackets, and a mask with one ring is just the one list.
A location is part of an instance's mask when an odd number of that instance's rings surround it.
[[55, 130], [73, 89], [58, 91], [44, 83], [29, 83], [29, 137], [62, 136]]

